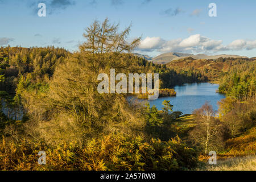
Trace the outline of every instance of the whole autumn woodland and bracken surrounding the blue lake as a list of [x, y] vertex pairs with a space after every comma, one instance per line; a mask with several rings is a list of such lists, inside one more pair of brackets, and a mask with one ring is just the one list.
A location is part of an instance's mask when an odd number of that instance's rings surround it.
[[[130, 31], [96, 20], [76, 52], [0, 48], [1, 170], [191, 170], [211, 150], [223, 158], [255, 155], [256, 59], [154, 64], [134, 55], [141, 38], [128, 41]], [[170, 101], [158, 110], [126, 94], [98, 93], [98, 74], [112, 68], [159, 73], [162, 96], [175, 96], [175, 85], [210, 81], [227, 97], [217, 112], [205, 103], [183, 115]], [[46, 165], [38, 164], [39, 151]]]

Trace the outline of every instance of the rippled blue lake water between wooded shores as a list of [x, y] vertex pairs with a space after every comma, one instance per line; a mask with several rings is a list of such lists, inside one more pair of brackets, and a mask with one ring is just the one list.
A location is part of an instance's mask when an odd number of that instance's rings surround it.
[[224, 94], [217, 93], [218, 84], [193, 83], [175, 86], [176, 97], [160, 97], [158, 100], [149, 100], [150, 105], [155, 105], [162, 109], [162, 102], [170, 100], [174, 105], [174, 111], [181, 111], [183, 114], [191, 114], [193, 110], [200, 108], [206, 101], [213, 105], [214, 110], [218, 110], [217, 102], [225, 98]]

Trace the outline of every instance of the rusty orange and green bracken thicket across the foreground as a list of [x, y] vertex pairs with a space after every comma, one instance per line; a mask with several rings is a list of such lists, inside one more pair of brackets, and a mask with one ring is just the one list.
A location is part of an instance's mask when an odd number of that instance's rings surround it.
[[[38, 152], [46, 152], [46, 165], [38, 164]], [[44, 143], [0, 143], [1, 170], [181, 170], [196, 166], [196, 152], [179, 137], [169, 142], [107, 135], [85, 146], [76, 143], [47, 146]]]

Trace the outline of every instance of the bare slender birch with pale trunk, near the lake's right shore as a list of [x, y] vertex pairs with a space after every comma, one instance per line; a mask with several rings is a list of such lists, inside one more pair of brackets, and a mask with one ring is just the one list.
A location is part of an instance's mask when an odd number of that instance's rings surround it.
[[193, 111], [196, 125], [189, 133], [189, 139], [204, 149], [205, 155], [209, 150], [217, 150], [222, 146], [222, 126], [215, 118], [216, 111], [212, 105], [205, 103], [200, 109]]

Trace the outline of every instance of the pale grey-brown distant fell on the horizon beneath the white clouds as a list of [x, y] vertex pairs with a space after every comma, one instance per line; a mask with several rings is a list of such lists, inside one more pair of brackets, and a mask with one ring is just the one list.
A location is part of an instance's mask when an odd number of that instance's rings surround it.
[[189, 54], [189, 53], [179, 53], [179, 52], [170, 52], [170, 53], [163, 53], [162, 55], [156, 56], [152, 59], [154, 63], [161, 63], [166, 64], [170, 63], [172, 60], [179, 60], [179, 59], [185, 59], [186, 57], [192, 57], [193, 59], [218, 59], [219, 57], [242, 57], [242, 58], [248, 58], [246, 56], [239, 56], [239, 55], [215, 55], [215, 56], [208, 56], [204, 54]]

